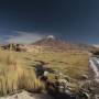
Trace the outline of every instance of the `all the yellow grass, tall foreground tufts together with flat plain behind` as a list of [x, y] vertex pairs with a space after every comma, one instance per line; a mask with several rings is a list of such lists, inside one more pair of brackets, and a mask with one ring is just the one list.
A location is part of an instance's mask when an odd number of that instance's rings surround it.
[[41, 61], [47, 63], [48, 68], [75, 79], [88, 74], [88, 55], [85, 53], [28, 53], [0, 50], [0, 95], [20, 89], [44, 89], [44, 84], [35, 75], [35, 67]]

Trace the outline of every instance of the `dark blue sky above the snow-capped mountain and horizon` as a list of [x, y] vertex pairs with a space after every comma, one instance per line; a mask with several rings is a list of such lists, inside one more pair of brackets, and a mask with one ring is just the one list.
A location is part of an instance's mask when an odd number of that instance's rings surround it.
[[98, 44], [99, 0], [0, 0], [1, 42], [47, 34]]

